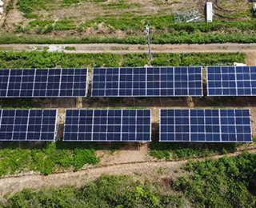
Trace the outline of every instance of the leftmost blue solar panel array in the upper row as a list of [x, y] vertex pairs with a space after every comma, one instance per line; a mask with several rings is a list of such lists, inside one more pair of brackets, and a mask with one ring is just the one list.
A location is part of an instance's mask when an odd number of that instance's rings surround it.
[[86, 97], [87, 69], [0, 70], [0, 97]]

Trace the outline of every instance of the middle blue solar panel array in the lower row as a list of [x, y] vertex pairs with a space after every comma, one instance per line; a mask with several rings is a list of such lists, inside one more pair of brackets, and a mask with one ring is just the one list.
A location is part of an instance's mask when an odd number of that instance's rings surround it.
[[151, 110], [66, 110], [63, 140], [150, 142]]

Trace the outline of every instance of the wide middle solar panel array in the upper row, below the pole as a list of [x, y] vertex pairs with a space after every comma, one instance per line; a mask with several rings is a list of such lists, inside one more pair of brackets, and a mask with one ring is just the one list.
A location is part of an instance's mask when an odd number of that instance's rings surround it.
[[94, 68], [92, 97], [145, 96], [202, 96], [202, 68]]

